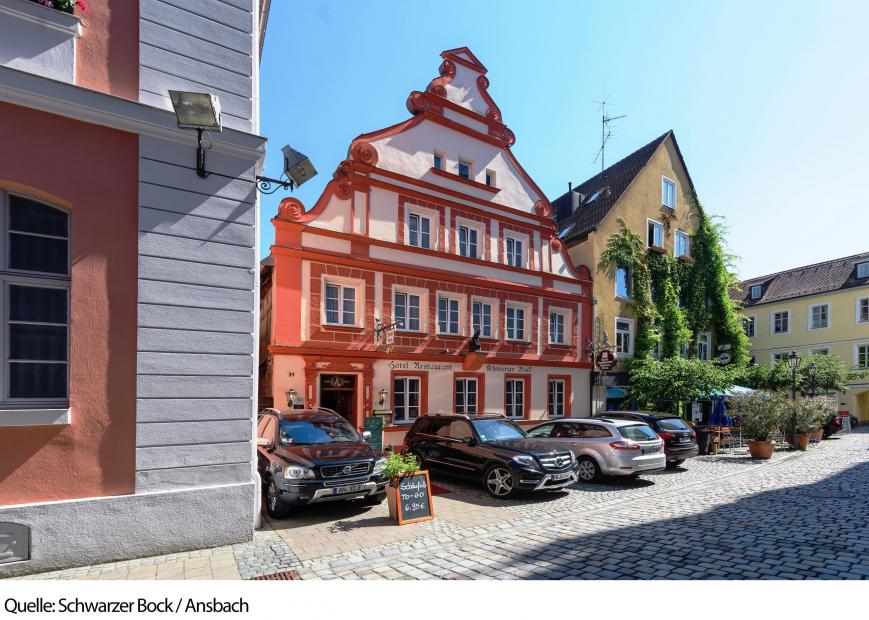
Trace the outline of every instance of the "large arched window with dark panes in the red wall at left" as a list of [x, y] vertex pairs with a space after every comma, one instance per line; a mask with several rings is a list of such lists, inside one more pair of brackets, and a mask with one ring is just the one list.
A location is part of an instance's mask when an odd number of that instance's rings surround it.
[[0, 410], [69, 398], [69, 214], [0, 190]]

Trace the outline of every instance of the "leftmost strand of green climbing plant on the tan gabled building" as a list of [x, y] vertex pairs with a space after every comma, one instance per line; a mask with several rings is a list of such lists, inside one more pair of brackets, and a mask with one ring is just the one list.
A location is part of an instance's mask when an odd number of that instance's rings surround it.
[[646, 247], [643, 238], [628, 228], [623, 219], [619, 218], [618, 223], [621, 230], [610, 237], [601, 254], [599, 267], [613, 271], [619, 267], [630, 270], [633, 297], [631, 307], [637, 316], [634, 357], [648, 358], [658, 342], [655, 332], [658, 313], [652, 303], [651, 277], [645, 261]]

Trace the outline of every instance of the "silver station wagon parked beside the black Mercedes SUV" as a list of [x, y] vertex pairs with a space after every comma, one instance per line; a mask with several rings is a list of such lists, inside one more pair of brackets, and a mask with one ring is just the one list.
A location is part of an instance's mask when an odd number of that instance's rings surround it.
[[664, 469], [664, 442], [648, 424], [635, 420], [565, 418], [539, 424], [528, 431], [552, 448], [568, 448], [576, 455], [579, 479], [594, 482], [601, 476], [628, 476]]

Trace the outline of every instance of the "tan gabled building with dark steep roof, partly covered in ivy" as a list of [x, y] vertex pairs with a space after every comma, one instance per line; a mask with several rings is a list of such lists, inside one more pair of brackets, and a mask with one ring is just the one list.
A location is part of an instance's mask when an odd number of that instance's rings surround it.
[[[595, 331], [597, 335], [606, 331], [622, 360], [633, 356], [637, 333], [631, 274], [626, 269], [599, 268], [601, 253], [621, 230], [621, 219], [643, 236], [650, 250], [691, 260], [690, 238], [699, 223], [690, 199], [692, 189], [671, 130], [552, 201], [559, 236], [573, 264], [585, 265], [593, 274]], [[700, 340], [698, 356], [710, 359], [711, 333]], [[619, 363], [608, 389], [611, 400], [623, 397], [626, 385]]]

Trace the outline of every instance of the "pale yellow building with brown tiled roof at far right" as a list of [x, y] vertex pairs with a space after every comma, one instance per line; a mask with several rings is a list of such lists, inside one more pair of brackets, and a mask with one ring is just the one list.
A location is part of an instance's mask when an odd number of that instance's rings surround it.
[[[742, 282], [751, 355], [758, 364], [791, 351], [838, 355], [869, 368], [869, 252]], [[869, 377], [839, 394], [839, 409], [869, 422]]]

